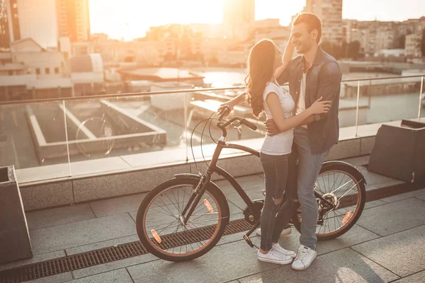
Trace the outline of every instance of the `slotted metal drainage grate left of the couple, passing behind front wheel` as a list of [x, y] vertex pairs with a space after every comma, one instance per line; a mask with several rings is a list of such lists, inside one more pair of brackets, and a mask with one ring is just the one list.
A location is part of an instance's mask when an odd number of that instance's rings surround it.
[[[224, 235], [239, 233], [249, 229], [251, 229], [251, 224], [246, 222], [245, 219], [237, 219], [230, 221], [229, 224], [227, 224]], [[164, 246], [164, 248], [174, 248], [188, 243], [196, 243], [200, 240], [206, 240], [208, 238], [205, 237], [210, 236], [210, 231], [213, 232], [214, 230], [215, 226], [205, 226], [189, 232], [166, 235], [162, 237], [164, 240], [163, 243], [168, 243], [165, 244], [166, 246]], [[185, 233], [184, 237], [182, 237], [182, 233]], [[79, 270], [81, 268], [91, 267], [94, 265], [101, 265], [115, 260], [132, 258], [137, 255], [144, 255], [145, 253], [147, 253], [147, 250], [144, 246], [142, 246], [140, 241], [125, 243], [120, 246], [92, 250], [87, 253], [69, 255], [64, 258], [55, 258], [53, 260], [37, 262], [32, 265], [16, 267], [11, 270], [4, 270], [3, 272], [0, 272], [0, 282], [26, 282], [28, 280]]]

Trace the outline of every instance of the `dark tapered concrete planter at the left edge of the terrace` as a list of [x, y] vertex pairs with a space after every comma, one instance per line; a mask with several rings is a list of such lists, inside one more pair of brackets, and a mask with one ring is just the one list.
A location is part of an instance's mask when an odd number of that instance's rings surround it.
[[15, 168], [0, 167], [0, 264], [32, 256]]

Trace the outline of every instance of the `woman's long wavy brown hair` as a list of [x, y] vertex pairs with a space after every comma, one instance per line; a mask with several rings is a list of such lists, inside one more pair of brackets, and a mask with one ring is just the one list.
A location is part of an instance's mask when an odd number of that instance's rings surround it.
[[263, 92], [273, 76], [275, 47], [271, 40], [260, 40], [251, 48], [246, 71], [246, 101], [251, 105], [252, 114], [260, 117], [263, 112]]

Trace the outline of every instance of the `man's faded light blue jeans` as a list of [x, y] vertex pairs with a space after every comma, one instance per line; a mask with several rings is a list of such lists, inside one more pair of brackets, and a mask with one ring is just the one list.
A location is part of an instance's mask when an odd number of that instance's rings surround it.
[[[307, 129], [294, 129], [293, 154], [297, 154], [297, 195], [301, 204], [301, 236], [300, 244], [309, 248], [316, 248], [318, 207], [314, 197], [314, 183], [319, 175], [320, 168], [329, 151], [322, 154], [312, 154]], [[290, 178], [290, 176], [289, 176]]]

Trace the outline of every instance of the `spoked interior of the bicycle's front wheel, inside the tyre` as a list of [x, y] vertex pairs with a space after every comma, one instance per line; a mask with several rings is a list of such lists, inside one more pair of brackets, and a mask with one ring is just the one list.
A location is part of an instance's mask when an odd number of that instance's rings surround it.
[[[150, 242], [156, 250], [161, 250], [165, 255], [197, 253], [198, 250], [210, 244], [210, 238], [215, 235], [215, 229], [220, 227], [220, 222], [227, 219], [227, 216], [221, 216], [215, 197], [211, 195], [211, 192], [205, 190], [187, 223], [183, 225], [181, 212], [192, 194], [193, 186], [191, 185], [182, 184], [170, 187], [168, 190], [159, 192], [147, 208], [144, 221], [145, 231], [149, 233], [152, 229], [155, 230], [156, 233], [152, 233], [153, 237], [149, 238]], [[197, 230], [207, 227], [213, 227], [213, 229], [208, 228], [197, 236]], [[183, 242], [173, 240], [173, 234], [179, 234], [178, 237]], [[200, 238], [198, 238], [199, 236]], [[164, 244], [159, 243], [161, 241]], [[163, 245], [167, 248], [164, 248]]]

